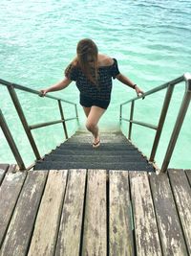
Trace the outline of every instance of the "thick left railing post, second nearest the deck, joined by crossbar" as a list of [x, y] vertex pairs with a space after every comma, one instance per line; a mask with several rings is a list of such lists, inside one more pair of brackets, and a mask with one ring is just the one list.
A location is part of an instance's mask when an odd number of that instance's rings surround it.
[[30, 143], [32, 145], [32, 150], [33, 150], [33, 152], [35, 154], [35, 157], [36, 157], [36, 159], [40, 159], [41, 157], [40, 157], [39, 151], [38, 151], [38, 149], [36, 147], [36, 144], [34, 142], [34, 139], [32, 137], [32, 131], [31, 131], [31, 129], [30, 129], [28, 123], [27, 123], [27, 120], [25, 118], [23, 109], [22, 109], [22, 107], [21, 107], [21, 105], [19, 103], [19, 100], [18, 100], [18, 97], [17, 97], [16, 92], [14, 90], [14, 87], [12, 85], [8, 86], [8, 90], [10, 92], [11, 100], [12, 100], [12, 102], [13, 102], [15, 108], [16, 108], [16, 111], [17, 111], [18, 116], [19, 116], [19, 118], [21, 120], [23, 128], [25, 129], [26, 134], [28, 136], [28, 139], [29, 139], [29, 141], [30, 141]]

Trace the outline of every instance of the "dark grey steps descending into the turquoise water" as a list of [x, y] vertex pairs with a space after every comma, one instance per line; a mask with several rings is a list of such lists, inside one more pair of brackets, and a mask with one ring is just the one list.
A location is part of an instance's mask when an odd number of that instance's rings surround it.
[[154, 172], [154, 168], [121, 131], [101, 132], [100, 147], [92, 147], [92, 135], [83, 130], [38, 160], [34, 170], [104, 169]]

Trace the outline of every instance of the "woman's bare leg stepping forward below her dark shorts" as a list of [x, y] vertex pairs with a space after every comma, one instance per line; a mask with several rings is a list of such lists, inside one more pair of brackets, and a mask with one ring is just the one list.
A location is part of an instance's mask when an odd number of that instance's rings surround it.
[[97, 143], [99, 141], [97, 123], [105, 110], [106, 109], [104, 108], [93, 105], [89, 112], [86, 128], [93, 133], [93, 136], [95, 137], [94, 143]]

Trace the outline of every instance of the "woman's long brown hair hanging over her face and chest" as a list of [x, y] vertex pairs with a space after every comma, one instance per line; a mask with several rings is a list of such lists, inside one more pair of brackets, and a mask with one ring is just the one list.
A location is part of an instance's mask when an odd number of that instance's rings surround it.
[[70, 72], [74, 66], [79, 67], [89, 81], [97, 85], [98, 79], [98, 49], [96, 43], [88, 38], [82, 39], [77, 43], [77, 56], [68, 65], [65, 75], [70, 77]]

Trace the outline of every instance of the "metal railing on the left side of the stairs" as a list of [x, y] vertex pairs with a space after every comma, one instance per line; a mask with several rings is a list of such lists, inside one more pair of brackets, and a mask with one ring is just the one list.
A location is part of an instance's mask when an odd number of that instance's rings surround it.
[[[23, 128], [25, 129], [25, 132], [26, 132], [26, 134], [28, 136], [28, 139], [29, 139], [30, 144], [32, 146], [32, 151], [33, 151], [33, 153], [34, 153], [34, 155], [36, 157], [36, 160], [41, 159], [41, 156], [40, 156], [40, 153], [39, 153], [39, 151], [37, 149], [35, 141], [33, 139], [32, 129], [52, 126], [52, 125], [61, 123], [63, 125], [65, 137], [66, 137], [66, 139], [68, 139], [68, 131], [67, 131], [67, 127], [66, 127], [66, 122], [74, 120], [74, 119], [78, 120], [76, 104], [74, 104], [72, 102], [69, 102], [69, 101], [65, 101], [63, 99], [59, 99], [59, 98], [50, 96], [50, 95], [46, 95], [45, 96], [46, 98], [50, 98], [50, 99], [53, 99], [53, 100], [57, 101], [61, 118], [59, 120], [55, 120], [55, 121], [52, 121], [52, 122], [35, 124], [35, 125], [31, 125], [30, 126], [28, 124], [28, 122], [27, 122], [27, 119], [25, 117], [25, 114], [24, 114], [24, 111], [22, 109], [22, 106], [20, 105], [20, 102], [19, 102], [19, 99], [17, 97], [15, 89], [22, 90], [22, 91], [25, 91], [25, 92], [28, 92], [28, 93], [32, 93], [32, 94], [36, 94], [38, 96], [39, 96], [39, 91], [33, 90], [31, 88], [28, 88], [28, 87], [25, 87], [25, 86], [22, 86], [22, 85], [19, 85], [19, 84], [12, 83], [10, 81], [0, 80], [0, 84], [4, 85], [4, 86], [7, 86], [7, 88], [8, 88], [8, 91], [9, 91], [9, 93], [11, 95], [12, 103], [15, 106], [15, 109], [16, 109], [16, 111], [18, 113], [18, 116], [19, 116], [20, 121], [21, 121], [21, 123], [23, 125]], [[64, 118], [64, 111], [63, 111], [63, 107], [62, 107], [62, 102], [70, 104], [70, 105], [74, 105], [74, 110], [75, 110], [75, 117], [74, 118], [68, 118], [68, 119]], [[5, 134], [6, 139], [7, 139], [8, 143], [9, 143], [9, 145], [10, 145], [11, 151], [12, 151], [12, 153], [13, 153], [16, 161], [17, 161], [19, 169], [20, 170], [25, 170], [26, 167], [25, 167], [24, 162], [22, 160], [22, 157], [21, 157], [21, 155], [20, 155], [20, 153], [19, 153], [19, 151], [18, 151], [18, 149], [16, 147], [16, 144], [15, 144], [15, 142], [14, 142], [12, 136], [11, 136], [11, 131], [10, 131], [10, 129], [9, 129], [7, 123], [6, 123], [6, 120], [5, 120], [1, 110], [0, 110], [0, 125], [1, 125], [1, 128], [2, 128], [2, 130], [4, 132], [4, 134]]]

